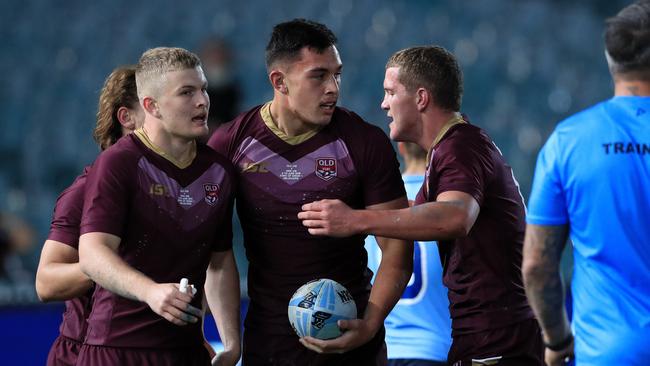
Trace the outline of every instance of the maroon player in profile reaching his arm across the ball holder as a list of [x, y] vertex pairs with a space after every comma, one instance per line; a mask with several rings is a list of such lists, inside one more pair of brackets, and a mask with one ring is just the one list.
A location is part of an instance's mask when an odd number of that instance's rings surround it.
[[315, 235], [437, 240], [452, 318], [449, 364], [543, 365], [521, 276], [523, 199], [499, 149], [460, 115], [456, 59], [438, 46], [399, 51], [386, 65], [384, 90], [391, 138], [429, 152], [415, 206], [353, 210], [325, 200], [303, 206], [299, 217]]

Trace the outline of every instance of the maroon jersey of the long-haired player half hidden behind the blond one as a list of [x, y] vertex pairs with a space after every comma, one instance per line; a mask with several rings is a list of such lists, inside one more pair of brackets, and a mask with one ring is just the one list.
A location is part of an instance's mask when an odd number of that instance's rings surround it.
[[[79, 224], [83, 210], [84, 187], [89, 167], [66, 188], [56, 200], [48, 240], [55, 240], [79, 249]], [[86, 318], [90, 314], [90, 298], [94, 288], [65, 302], [65, 313], [59, 327], [61, 335], [83, 343], [86, 335]]]

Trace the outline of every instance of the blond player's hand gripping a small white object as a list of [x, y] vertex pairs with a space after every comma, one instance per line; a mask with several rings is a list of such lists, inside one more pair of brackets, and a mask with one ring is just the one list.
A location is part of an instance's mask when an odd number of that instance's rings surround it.
[[176, 325], [199, 321], [201, 309], [190, 305], [191, 301], [192, 295], [181, 292], [177, 283], [157, 283], [145, 294], [151, 310]]

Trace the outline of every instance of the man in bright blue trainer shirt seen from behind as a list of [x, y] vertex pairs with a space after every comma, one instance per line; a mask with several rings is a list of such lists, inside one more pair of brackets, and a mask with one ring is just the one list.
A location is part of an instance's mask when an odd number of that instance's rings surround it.
[[[650, 360], [650, 2], [607, 20], [605, 56], [614, 97], [556, 127], [530, 195], [524, 279], [551, 366], [574, 348], [576, 365]], [[573, 332], [559, 274], [569, 237]]]

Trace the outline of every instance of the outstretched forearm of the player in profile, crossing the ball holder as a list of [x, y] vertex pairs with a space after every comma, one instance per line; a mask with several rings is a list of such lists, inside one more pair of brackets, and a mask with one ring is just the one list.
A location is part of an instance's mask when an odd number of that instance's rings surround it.
[[467, 235], [466, 212], [454, 202], [429, 202], [401, 210], [353, 211], [355, 231], [404, 240], [448, 240]]

